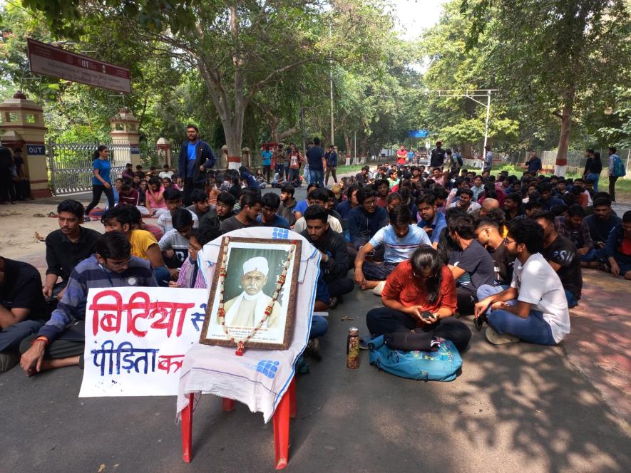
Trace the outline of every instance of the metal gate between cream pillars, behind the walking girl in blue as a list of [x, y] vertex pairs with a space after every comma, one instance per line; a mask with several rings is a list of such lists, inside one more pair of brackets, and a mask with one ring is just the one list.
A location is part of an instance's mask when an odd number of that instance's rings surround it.
[[[73, 194], [92, 190], [94, 152], [99, 143], [60, 144], [48, 143], [48, 169], [51, 171], [52, 192], [55, 195]], [[110, 145], [110, 177], [120, 176], [130, 162], [129, 145]]]

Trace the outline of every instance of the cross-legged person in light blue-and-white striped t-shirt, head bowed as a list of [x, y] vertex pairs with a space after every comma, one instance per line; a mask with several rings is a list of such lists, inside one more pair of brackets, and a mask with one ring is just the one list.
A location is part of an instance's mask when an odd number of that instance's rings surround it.
[[[390, 211], [390, 224], [359, 249], [355, 257], [355, 283], [362, 290], [383, 287], [379, 282], [385, 281], [401, 261], [409, 260], [421, 244], [431, 246], [425, 230], [410, 224], [410, 209], [406, 205], [397, 205]], [[381, 246], [384, 246], [384, 261], [366, 261], [366, 255]]]

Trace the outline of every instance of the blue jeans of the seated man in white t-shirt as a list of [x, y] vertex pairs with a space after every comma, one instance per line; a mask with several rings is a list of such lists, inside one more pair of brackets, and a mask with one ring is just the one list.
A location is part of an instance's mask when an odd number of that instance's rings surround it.
[[508, 333], [528, 343], [556, 345], [550, 324], [543, 320], [541, 311], [530, 311], [528, 317], [521, 318], [503, 309], [487, 312], [487, 323], [498, 333]]

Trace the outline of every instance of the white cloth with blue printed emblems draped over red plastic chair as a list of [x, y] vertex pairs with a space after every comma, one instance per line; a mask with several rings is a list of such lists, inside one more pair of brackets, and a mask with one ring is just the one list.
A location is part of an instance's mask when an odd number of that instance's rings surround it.
[[[263, 420], [268, 422], [289, 388], [296, 360], [309, 341], [320, 254], [307, 239], [286, 229], [254, 227], [222, 235], [225, 236], [302, 241], [290, 345], [287, 350], [246, 348], [242, 356], [237, 356], [233, 346], [195, 343], [186, 353], [180, 370], [177, 415], [179, 419], [187, 407], [188, 394], [195, 393], [195, 404], [201, 394], [214, 394], [243, 402], [250, 411], [262, 412]], [[197, 254], [197, 264], [208, 288], [212, 286], [222, 237], [207, 243]]]

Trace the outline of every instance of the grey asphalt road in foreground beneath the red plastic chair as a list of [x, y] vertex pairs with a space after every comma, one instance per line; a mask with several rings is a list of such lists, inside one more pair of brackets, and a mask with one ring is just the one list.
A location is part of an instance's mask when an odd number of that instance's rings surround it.
[[[628, 431], [561, 347], [490, 345], [468, 321], [471, 348], [451, 383], [396, 378], [366, 352], [347, 369], [347, 330], [365, 333], [377, 305], [354, 291], [330, 311], [323, 358], [307, 358], [310, 373], [297, 378], [287, 472], [629, 471]], [[175, 397], [79, 399], [81, 376], [76, 367], [0, 375], [0, 473], [273, 470], [272, 423], [245, 405], [222, 412], [203, 396], [185, 464]]]

